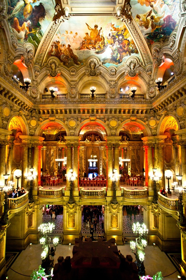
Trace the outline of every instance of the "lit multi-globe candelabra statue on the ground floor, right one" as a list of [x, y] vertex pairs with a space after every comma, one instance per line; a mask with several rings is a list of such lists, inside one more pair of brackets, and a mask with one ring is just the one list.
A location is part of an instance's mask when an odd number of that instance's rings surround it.
[[134, 253], [133, 250], [136, 249], [135, 254], [135, 264], [138, 267], [138, 274], [139, 275], [145, 275], [145, 267], [144, 267], [144, 257], [145, 257], [145, 246], [147, 245], [147, 241], [143, 239], [143, 236], [147, 236], [148, 230], [145, 226], [145, 224], [139, 224], [137, 222], [136, 224], [133, 223], [132, 230], [135, 235], [139, 234], [139, 237], [136, 238], [136, 241], [131, 241], [131, 249], [132, 253]]

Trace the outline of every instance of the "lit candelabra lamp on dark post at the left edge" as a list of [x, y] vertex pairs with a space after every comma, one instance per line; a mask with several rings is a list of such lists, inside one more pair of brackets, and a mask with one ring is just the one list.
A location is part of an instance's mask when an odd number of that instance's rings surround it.
[[4, 179], [5, 179], [5, 184], [0, 186], [1, 194], [4, 194], [4, 211], [3, 215], [1, 216], [0, 219], [0, 224], [1, 225], [7, 225], [9, 224], [10, 220], [8, 218], [8, 193], [12, 191], [12, 188], [14, 186], [14, 183], [9, 181], [7, 184], [7, 179], [10, 174], [4, 174]]

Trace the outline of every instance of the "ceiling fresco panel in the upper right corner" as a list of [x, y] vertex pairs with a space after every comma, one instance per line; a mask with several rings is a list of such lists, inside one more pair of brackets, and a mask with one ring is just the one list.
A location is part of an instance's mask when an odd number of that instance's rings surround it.
[[179, 0], [131, 0], [132, 16], [150, 47], [169, 40], [179, 21]]

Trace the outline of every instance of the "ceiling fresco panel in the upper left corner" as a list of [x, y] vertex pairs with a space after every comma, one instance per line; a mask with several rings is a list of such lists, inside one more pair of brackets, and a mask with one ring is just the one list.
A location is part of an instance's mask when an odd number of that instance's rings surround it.
[[37, 49], [54, 16], [54, 7], [55, 0], [9, 0], [7, 13], [11, 31], [18, 40], [30, 42]]

